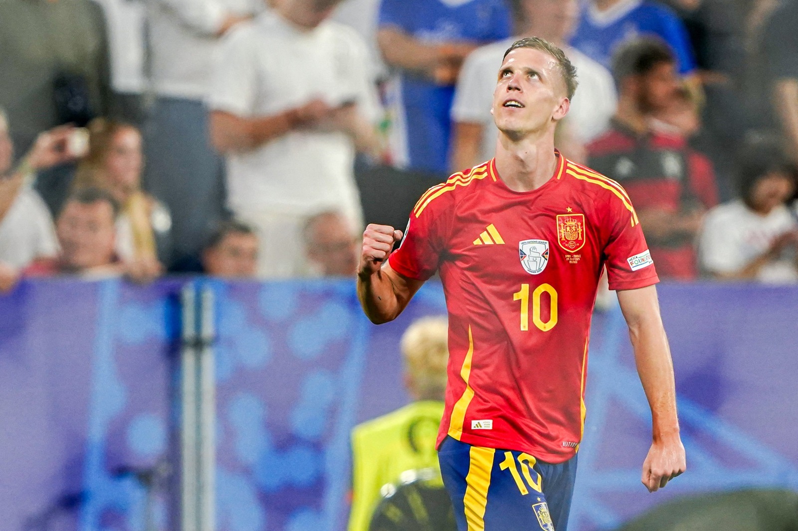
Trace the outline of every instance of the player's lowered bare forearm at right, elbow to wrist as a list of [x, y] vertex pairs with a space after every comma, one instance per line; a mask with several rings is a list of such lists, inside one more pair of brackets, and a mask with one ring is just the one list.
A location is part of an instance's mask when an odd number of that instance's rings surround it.
[[674, 364], [659, 313], [630, 322], [629, 335], [638, 375], [651, 408], [654, 440], [678, 437]]

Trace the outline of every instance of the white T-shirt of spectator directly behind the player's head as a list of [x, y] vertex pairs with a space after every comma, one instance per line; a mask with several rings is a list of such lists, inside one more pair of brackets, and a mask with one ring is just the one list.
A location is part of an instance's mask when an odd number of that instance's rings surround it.
[[[504, 52], [516, 39], [495, 42], [474, 50], [465, 60], [452, 104], [452, 120], [485, 126], [480, 160], [492, 159], [499, 132], [493, 123], [491, 107], [493, 90]], [[577, 139], [587, 144], [606, 130], [615, 113], [618, 95], [610, 72], [596, 61], [574, 48], [565, 53], [576, 67], [579, 88], [566, 120], [569, 120]]]

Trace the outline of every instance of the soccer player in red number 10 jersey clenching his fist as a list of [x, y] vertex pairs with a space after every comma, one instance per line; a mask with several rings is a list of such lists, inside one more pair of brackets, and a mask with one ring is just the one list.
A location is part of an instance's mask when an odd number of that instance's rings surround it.
[[658, 277], [637, 214], [618, 183], [554, 147], [575, 88], [561, 49], [515, 42], [493, 94], [496, 157], [429, 189], [403, 239], [391, 226], [363, 234], [358, 296], [371, 321], [396, 318], [436, 270], [443, 281], [449, 362], [437, 444], [460, 531], [567, 529], [604, 266], [653, 417], [642, 482], [658, 490], [685, 470]]

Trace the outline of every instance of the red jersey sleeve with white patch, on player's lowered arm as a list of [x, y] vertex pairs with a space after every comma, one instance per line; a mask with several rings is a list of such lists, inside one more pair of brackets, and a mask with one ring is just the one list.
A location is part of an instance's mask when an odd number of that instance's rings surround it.
[[[626, 195], [626, 192], [622, 192]], [[659, 281], [646, 238], [629, 199], [608, 199], [605, 210], [604, 247], [610, 289], [638, 289]]]

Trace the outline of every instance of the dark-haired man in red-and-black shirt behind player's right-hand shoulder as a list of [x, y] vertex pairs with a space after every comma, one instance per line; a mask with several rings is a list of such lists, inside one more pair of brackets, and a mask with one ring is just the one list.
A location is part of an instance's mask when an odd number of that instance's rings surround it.
[[618, 50], [613, 74], [618, 112], [588, 146], [589, 165], [626, 188], [659, 276], [694, 279], [693, 240], [705, 210], [717, 204], [713, 167], [683, 136], [651, 125], [679, 98], [676, 59], [662, 41], [642, 38]]

